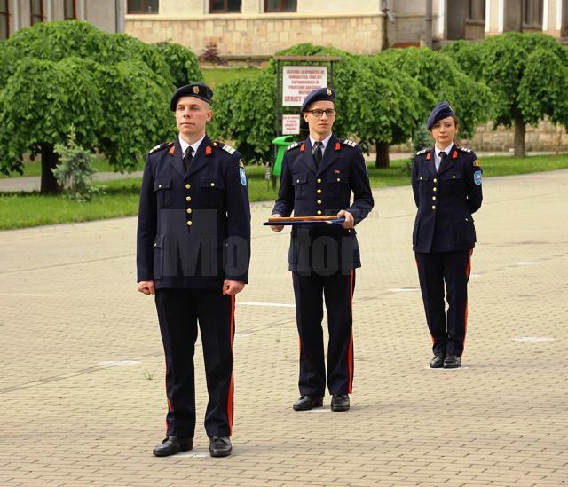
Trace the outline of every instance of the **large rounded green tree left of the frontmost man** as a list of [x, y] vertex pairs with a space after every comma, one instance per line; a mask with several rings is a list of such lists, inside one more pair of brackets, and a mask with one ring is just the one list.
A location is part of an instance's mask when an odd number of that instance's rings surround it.
[[80, 20], [20, 29], [0, 43], [0, 62], [0, 170], [21, 173], [25, 153], [41, 154], [42, 192], [58, 189], [54, 146], [66, 143], [71, 125], [77, 145], [104, 153], [116, 170], [135, 169], [149, 146], [175, 133], [176, 83], [184, 73], [201, 77], [181, 46], [157, 47]]

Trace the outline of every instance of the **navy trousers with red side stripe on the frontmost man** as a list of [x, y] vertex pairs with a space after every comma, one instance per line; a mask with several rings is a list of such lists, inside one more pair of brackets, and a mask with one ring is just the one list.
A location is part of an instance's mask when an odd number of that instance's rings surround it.
[[199, 322], [209, 392], [205, 430], [207, 436], [231, 436], [234, 296], [220, 289], [157, 289], [155, 302], [166, 356], [166, 435], [193, 438]]

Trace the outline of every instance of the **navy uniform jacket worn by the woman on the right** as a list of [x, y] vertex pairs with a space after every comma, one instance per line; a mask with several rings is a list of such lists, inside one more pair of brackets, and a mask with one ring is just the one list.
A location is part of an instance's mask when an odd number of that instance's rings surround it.
[[412, 189], [418, 212], [415, 252], [454, 252], [475, 247], [472, 213], [481, 207], [482, 170], [470, 149], [452, 146], [436, 172], [434, 148], [416, 153]]

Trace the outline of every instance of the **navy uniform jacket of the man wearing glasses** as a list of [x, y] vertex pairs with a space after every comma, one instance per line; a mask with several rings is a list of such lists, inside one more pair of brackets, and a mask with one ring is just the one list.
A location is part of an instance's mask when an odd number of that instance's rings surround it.
[[[351, 192], [354, 200], [351, 203]], [[319, 169], [312, 155], [310, 137], [303, 143], [290, 145], [282, 160], [280, 190], [272, 214], [290, 216], [336, 215], [349, 211], [359, 224], [373, 209], [374, 201], [367, 176], [367, 166], [359, 145], [339, 140], [332, 135], [327, 143]], [[302, 255], [318, 237], [331, 237], [337, 243], [338, 271], [361, 266], [355, 229], [337, 224], [293, 226], [288, 269], [302, 271]], [[306, 238], [304, 238], [304, 236]], [[311, 265], [312, 260], [308, 265]]]

